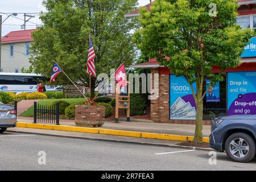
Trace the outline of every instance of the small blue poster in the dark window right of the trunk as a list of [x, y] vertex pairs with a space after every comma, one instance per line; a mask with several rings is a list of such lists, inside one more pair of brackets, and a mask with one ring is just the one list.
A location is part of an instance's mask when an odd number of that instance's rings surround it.
[[216, 85], [211, 86], [210, 80], [206, 80], [206, 101], [207, 102], [220, 102], [220, 82], [216, 82]]

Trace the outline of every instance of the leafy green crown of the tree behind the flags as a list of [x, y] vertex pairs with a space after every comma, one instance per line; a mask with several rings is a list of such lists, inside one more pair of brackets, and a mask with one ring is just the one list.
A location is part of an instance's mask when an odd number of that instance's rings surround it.
[[[137, 24], [124, 15], [137, 4], [137, 0], [44, 0], [47, 13], [40, 16], [43, 26], [33, 32], [30, 48], [34, 72], [49, 78], [56, 61], [72, 80], [89, 86], [89, 35], [96, 52], [96, 75], [110, 75], [110, 68], [118, 68], [123, 62], [129, 66], [135, 58], [131, 30]], [[69, 83], [63, 74], [56, 80], [57, 85]], [[97, 84], [92, 77], [92, 98]]]

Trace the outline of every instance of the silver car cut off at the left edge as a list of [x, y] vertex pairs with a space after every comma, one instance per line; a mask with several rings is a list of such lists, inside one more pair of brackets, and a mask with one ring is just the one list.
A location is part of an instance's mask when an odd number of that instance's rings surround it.
[[16, 110], [13, 105], [0, 102], [0, 133], [16, 126]]

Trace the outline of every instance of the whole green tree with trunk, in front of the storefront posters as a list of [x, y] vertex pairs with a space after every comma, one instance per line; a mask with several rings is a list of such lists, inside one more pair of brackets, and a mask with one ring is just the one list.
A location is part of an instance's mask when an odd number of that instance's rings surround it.
[[[217, 16], [210, 10], [214, 6]], [[139, 16], [142, 28], [134, 35], [138, 48], [191, 85], [197, 108], [194, 142], [203, 139], [205, 78], [212, 85], [223, 81], [224, 77], [211, 69], [219, 66], [222, 72], [240, 65], [243, 47], [253, 36], [251, 30], [236, 25], [237, 9], [237, 0], [156, 0], [150, 12], [142, 9]]]

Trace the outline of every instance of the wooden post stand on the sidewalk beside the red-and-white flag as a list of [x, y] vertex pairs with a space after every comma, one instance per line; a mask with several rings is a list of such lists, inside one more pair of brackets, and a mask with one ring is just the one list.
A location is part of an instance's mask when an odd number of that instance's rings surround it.
[[115, 123], [118, 123], [118, 109], [127, 109], [127, 121], [130, 121], [130, 89], [128, 82], [122, 89], [118, 84], [115, 88]]

